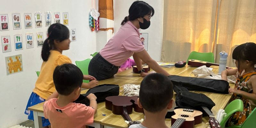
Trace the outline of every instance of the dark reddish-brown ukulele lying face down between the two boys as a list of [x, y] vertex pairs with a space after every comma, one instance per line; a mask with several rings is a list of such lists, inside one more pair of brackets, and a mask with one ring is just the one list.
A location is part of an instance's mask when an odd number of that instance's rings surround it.
[[132, 114], [132, 108], [135, 112], [143, 113], [143, 108], [138, 106], [138, 96], [109, 96], [105, 100], [105, 106], [108, 110], [111, 110], [113, 114], [121, 115], [125, 123], [128, 125], [140, 124], [143, 119], [139, 121], [132, 121], [129, 114]]

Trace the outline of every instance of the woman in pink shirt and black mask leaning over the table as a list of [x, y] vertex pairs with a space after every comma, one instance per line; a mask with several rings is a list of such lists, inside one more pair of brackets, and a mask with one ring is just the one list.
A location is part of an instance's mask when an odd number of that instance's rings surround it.
[[138, 29], [147, 29], [150, 26], [150, 19], [154, 12], [153, 7], [144, 1], [133, 2], [129, 9], [129, 16], [124, 18], [120, 29], [90, 61], [89, 75], [94, 76], [97, 80], [108, 79], [117, 73], [118, 68], [128, 58], [133, 56], [140, 76], [148, 75], [142, 68], [141, 60], [154, 71], [170, 76], [149, 56], [144, 45], [141, 44]]

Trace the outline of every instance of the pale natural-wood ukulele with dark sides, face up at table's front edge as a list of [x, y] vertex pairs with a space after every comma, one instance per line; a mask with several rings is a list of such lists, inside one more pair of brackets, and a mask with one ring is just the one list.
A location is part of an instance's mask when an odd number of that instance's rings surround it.
[[194, 128], [195, 124], [202, 123], [203, 113], [193, 109], [174, 109], [175, 115], [171, 118], [171, 128]]

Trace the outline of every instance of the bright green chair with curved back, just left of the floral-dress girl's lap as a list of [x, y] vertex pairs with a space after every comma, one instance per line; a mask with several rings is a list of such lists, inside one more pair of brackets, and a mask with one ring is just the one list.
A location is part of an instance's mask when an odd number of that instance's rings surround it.
[[228, 106], [224, 109], [225, 113], [227, 113], [227, 116], [223, 118], [223, 120], [220, 122], [220, 126], [224, 128], [225, 124], [227, 123], [230, 116], [233, 115], [235, 112], [242, 112], [244, 109], [243, 101], [240, 99], [233, 100], [228, 104]]

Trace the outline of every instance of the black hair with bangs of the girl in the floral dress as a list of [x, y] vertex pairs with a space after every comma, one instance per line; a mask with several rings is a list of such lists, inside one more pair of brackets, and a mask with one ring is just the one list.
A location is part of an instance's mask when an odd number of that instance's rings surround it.
[[256, 64], [256, 44], [252, 42], [244, 43], [237, 46], [233, 53], [232, 58], [238, 61], [237, 68], [240, 71], [240, 61], [248, 60], [252, 61], [252, 64]]

